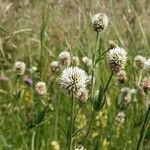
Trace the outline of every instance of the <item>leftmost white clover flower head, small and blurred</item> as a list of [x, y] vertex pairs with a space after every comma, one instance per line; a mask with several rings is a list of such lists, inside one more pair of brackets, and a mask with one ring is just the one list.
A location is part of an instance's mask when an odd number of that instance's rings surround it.
[[14, 71], [16, 72], [16, 74], [18, 75], [23, 75], [25, 73], [26, 70], [26, 64], [22, 61], [17, 61], [14, 64]]

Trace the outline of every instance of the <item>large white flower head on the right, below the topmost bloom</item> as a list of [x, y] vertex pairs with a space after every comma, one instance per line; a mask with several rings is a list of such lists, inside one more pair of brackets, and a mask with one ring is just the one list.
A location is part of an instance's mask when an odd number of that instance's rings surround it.
[[113, 48], [108, 53], [108, 61], [112, 71], [119, 72], [125, 68], [127, 52], [120, 47]]

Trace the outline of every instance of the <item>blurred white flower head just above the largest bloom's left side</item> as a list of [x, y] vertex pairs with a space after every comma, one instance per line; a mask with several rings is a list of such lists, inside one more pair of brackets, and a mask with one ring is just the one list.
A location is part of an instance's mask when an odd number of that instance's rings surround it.
[[69, 66], [71, 64], [71, 56], [67, 51], [63, 51], [59, 54], [59, 62], [61, 65]]

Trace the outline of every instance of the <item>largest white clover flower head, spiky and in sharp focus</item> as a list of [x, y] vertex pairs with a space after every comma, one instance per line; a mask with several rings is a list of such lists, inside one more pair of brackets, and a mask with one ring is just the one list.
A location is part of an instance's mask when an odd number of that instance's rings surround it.
[[60, 85], [69, 92], [76, 92], [80, 88], [86, 88], [88, 75], [79, 67], [67, 67], [60, 76]]

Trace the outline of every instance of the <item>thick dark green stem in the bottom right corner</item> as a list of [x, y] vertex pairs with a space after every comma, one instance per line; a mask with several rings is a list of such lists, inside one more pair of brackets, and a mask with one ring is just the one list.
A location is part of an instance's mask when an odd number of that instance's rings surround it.
[[141, 129], [140, 138], [139, 138], [136, 150], [142, 150], [143, 149], [143, 141], [144, 141], [144, 137], [145, 137], [145, 134], [147, 131], [147, 123], [148, 123], [149, 118], [150, 118], [150, 105], [148, 107], [148, 110], [147, 110], [147, 113], [145, 116], [145, 120], [144, 120], [142, 129]]

